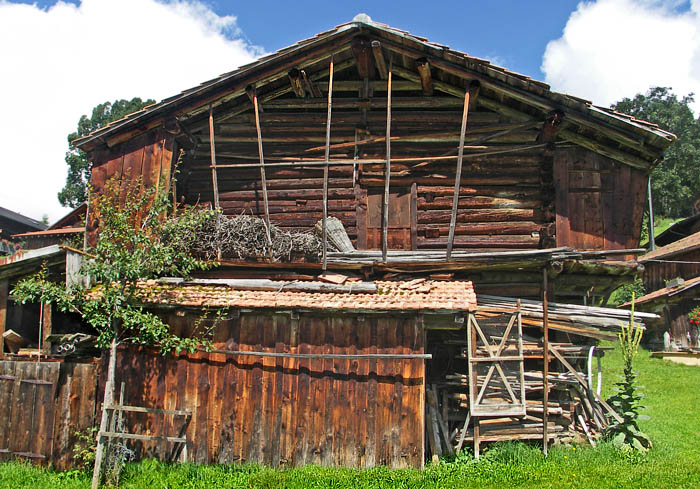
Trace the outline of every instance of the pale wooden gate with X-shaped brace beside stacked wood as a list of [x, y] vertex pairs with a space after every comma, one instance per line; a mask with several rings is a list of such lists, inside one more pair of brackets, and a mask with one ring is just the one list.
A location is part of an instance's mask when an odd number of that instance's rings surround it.
[[471, 416], [525, 416], [521, 313], [470, 314], [467, 344]]

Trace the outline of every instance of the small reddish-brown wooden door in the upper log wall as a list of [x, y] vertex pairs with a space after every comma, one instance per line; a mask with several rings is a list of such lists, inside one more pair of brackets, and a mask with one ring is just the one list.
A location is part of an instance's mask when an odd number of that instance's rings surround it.
[[[415, 249], [411, 233], [413, 199], [409, 188], [392, 188], [389, 192], [389, 224], [387, 248], [390, 250]], [[367, 249], [382, 247], [383, 188], [367, 190]]]

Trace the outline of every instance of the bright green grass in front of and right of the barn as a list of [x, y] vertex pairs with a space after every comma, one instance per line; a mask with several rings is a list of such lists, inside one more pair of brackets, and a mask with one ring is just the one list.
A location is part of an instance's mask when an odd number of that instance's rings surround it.
[[[304, 467], [275, 470], [255, 465], [168, 465], [146, 460], [129, 465], [124, 489], [194, 488], [691, 488], [700, 487], [700, 368], [637, 357], [650, 420], [640, 426], [654, 441], [646, 456], [611, 445], [553, 447], [548, 457], [522, 443], [491, 448], [480, 461], [465, 455], [424, 471]], [[604, 358], [604, 397], [622, 369], [619, 352]], [[28, 464], [0, 464], [0, 487], [85, 489], [90, 475], [57, 474]]]

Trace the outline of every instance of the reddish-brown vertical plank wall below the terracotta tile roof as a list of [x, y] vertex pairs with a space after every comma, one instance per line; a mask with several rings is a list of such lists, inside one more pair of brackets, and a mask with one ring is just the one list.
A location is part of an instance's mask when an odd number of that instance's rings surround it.
[[[169, 317], [175, 329], [192, 316]], [[220, 324], [215, 346], [298, 353], [422, 353], [414, 318], [242, 313]], [[423, 360], [277, 359], [197, 353], [162, 356], [122, 349], [117, 386], [125, 403], [187, 409], [187, 458], [198, 463], [258, 462], [421, 467]], [[128, 431], [177, 436], [182, 418], [134, 414]], [[140, 455], [168, 458], [173, 446], [137, 442]]]

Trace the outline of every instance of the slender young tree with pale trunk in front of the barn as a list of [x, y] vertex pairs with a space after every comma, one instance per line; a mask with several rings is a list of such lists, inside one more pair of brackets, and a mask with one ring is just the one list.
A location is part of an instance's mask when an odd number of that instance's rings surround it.
[[[182, 338], [153, 312], [144, 309], [143, 280], [164, 275], [186, 277], [208, 263], [190, 250], [204, 220], [212, 211], [179, 208], [171, 212], [167, 193], [143, 189], [141, 185], [120, 189], [119, 180], [108, 182], [105, 191], [91, 197], [91, 214], [97, 219], [99, 234], [94, 246], [86, 249], [81, 274], [89, 277], [91, 288], [71, 287], [52, 282], [46, 270], [17, 283], [12, 291], [20, 303], [55, 304], [64, 312], [75, 312], [98, 334], [98, 344], [109, 348], [104, 405], [113, 404], [117, 346], [134, 343], [171, 350], [194, 351], [209, 345], [210, 328]], [[202, 328], [203, 321], [198, 322]], [[107, 431], [103, 411], [100, 431]], [[103, 448], [98, 443], [95, 478]], [[95, 487], [95, 485], [93, 485]]]

